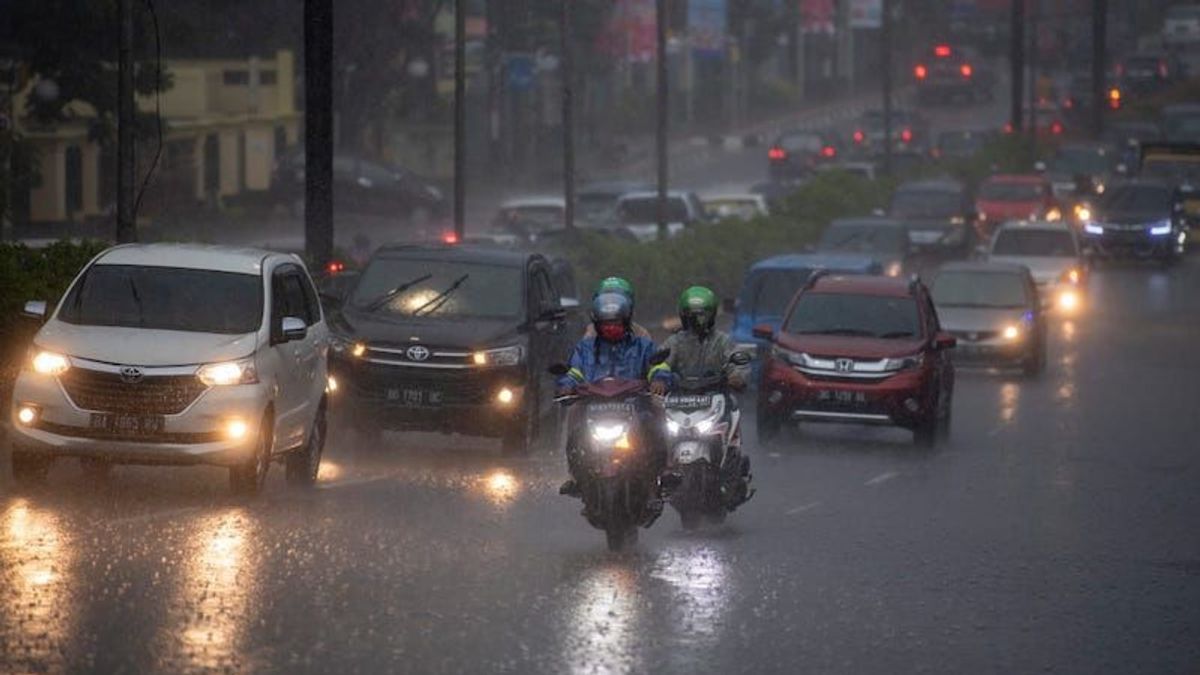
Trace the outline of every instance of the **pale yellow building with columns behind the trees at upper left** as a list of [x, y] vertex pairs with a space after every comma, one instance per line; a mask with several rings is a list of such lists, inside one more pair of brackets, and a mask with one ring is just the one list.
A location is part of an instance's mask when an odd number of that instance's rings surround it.
[[[168, 60], [173, 86], [162, 92], [162, 156], [139, 215], [178, 207], [216, 205], [222, 199], [270, 187], [276, 157], [294, 145], [300, 130], [295, 107], [295, 56], [271, 59]], [[16, 109], [36, 83], [18, 95]], [[154, 113], [155, 98], [138, 107]], [[40, 178], [29, 195], [30, 222], [80, 221], [113, 210], [116, 199], [115, 147], [89, 141], [89, 108], [73, 104], [74, 119], [53, 127], [20, 120], [20, 133], [36, 142]], [[145, 175], [156, 147], [142, 139], [137, 175]]]

